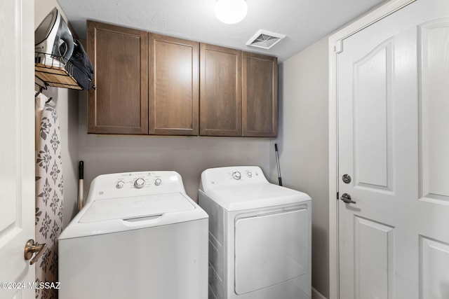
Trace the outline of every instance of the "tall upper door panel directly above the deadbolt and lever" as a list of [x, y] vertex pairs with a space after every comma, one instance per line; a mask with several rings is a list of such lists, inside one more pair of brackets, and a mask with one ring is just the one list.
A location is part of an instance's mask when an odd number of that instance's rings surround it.
[[391, 120], [388, 118], [391, 117], [392, 47], [391, 40], [382, 43], [354, 63], [356, 186], [391, 188]]

